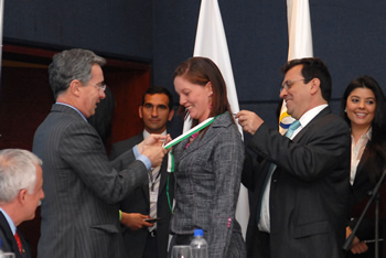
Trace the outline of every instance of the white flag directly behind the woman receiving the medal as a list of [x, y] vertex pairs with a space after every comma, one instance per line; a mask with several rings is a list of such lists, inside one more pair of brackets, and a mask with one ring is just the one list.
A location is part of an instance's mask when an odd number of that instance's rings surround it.
[[[223, 19], [219, 12], [217, 0], [202, 0], [197, 33], [195, 36], [194, 56], [211, 58], [219, 68], [226, 83], [226, 90], [230, 109], [238, 112], [238, 98], [233, 77], [228, 45], [223, 26]], [[186, 122], [185, 122], [186, 123]], [[186, 125], [184, 125], [185, 128]], [[190, 128], [190, 126], [187, 126]], [[243, 136], [243, 128], [238, 126]], [[242, 225], [245, 238], [249, 218], [248, 191], [244, 185], [240, 187], [236, 208], [236, 219]]]

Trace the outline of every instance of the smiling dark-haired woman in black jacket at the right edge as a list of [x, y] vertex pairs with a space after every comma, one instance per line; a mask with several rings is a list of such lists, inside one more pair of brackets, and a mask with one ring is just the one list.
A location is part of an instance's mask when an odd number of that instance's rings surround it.
[[[386, 98], [378, 83], [369, 76], [352, 80], [342, 98], [341, 116], [351, 126], [352, 135], [350, 182], [353, 186], [353, 219], [346, 228], [349, 237], [368, 201], [368, 192], [386, 169]], [[369, 244], [375, 233], [374, 211], [372, 205], [356, 232], [347, 257], [374, 257], [374, 243]], [[385, 216], [386, 183], [383, 183], [379, 190], [379, 238], [386, 236]], [[379, 246], [383, 245], [379, 241]]]

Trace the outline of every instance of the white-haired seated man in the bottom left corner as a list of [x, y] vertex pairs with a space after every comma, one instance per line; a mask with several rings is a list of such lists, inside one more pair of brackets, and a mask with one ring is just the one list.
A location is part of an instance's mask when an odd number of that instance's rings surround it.
[[17, 226], [35, 217], [44, 198], [42, 161], [19, 149], [0, 151], [0, 239], [3, 251], [17, 258], [31, 257], [28, 243]]

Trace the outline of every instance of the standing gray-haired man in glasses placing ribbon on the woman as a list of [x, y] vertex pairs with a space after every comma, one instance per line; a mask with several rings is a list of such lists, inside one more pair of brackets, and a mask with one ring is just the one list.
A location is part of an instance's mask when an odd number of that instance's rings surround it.
[[[158, 166], [164, 136], [150, 136], [109, 162], [87, 122], [105, 98], [105, 60], [86, 50], [63, 51], [49, 67], [56, 103], [37, 128], [33, 152], [43, 160], [39, 257], [124, 257], [119, 207]], [[115, 168], [120, 168], [116, 170]]]

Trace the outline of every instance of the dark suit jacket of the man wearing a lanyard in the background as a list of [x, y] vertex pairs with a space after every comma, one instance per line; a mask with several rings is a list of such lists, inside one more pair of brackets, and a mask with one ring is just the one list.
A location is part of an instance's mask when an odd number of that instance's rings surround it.
[[[137, 135], [130, 139], [117, 142], [112, 146], [110, 159], [116, 159], [125, 151], [131, 149], [133, 146], [143, 140], [142, 133]], [[168, 173], [168, 157], [163, 159], [161, 165], [161, 179], [157, 203], [157, 216], [162, 219], [157, 222], [157, 245], [159, 257], [165, 258], [168, 256], [169, 243], [169, 227], [171, 218], [171, 209], [168, 201], [168, 179], [169, 179], [169, 198], [171, 205], [174, 197], [174, 176]], [[148, 215], [150, 213], [149, 198], [149, 182], [147, 181], [142, 186], [136, 189], [126, 200], [120, 202], [120, 209], [126, 213], [141, 213]], [[124, 230], [124, 241], [127, 251], [127, 257], [141, 258], [146, 247], [148, 228], [131, 230], [126, 228]]]

